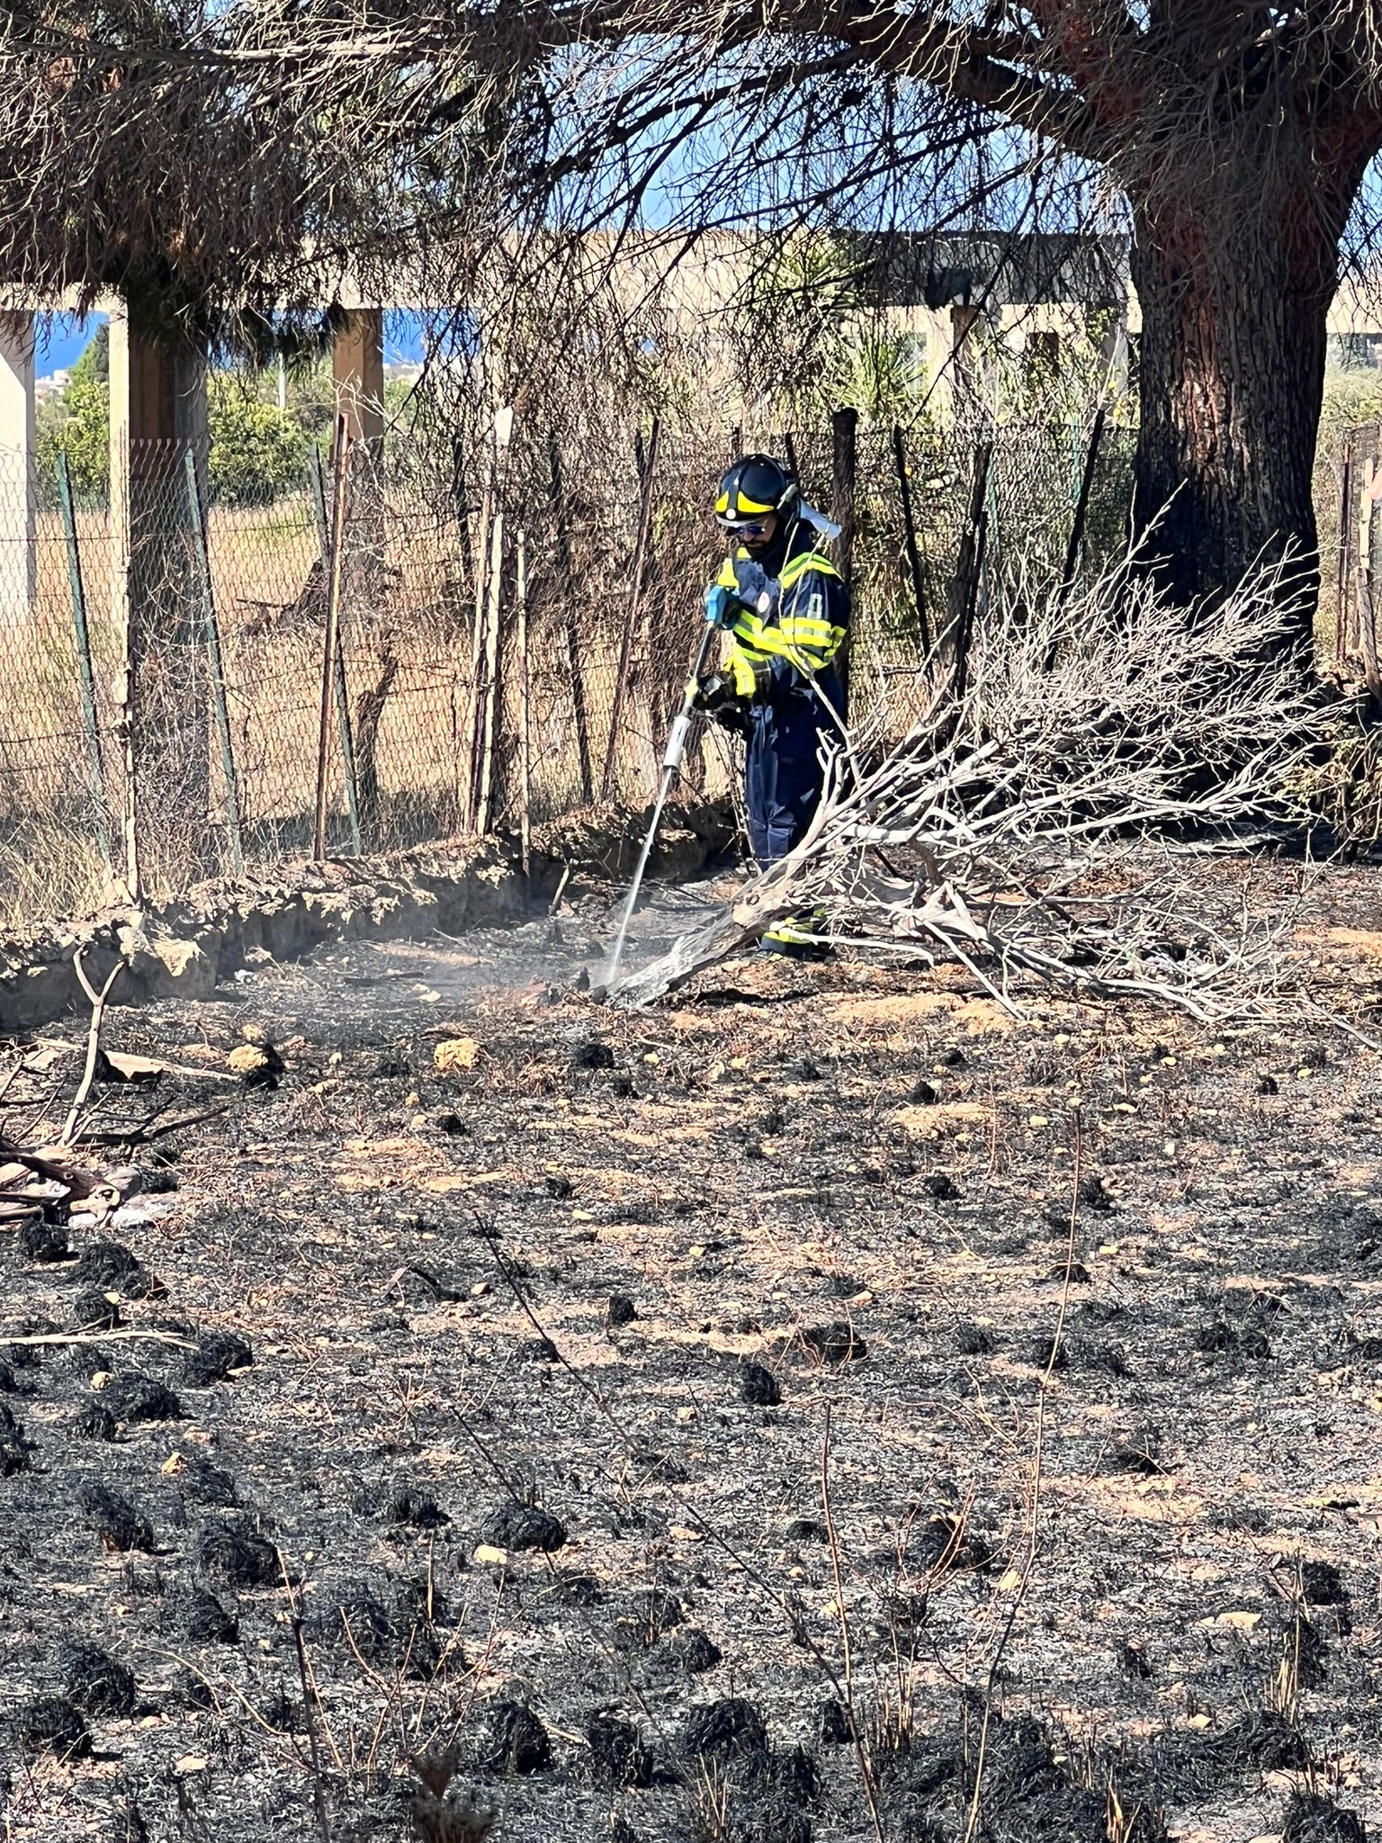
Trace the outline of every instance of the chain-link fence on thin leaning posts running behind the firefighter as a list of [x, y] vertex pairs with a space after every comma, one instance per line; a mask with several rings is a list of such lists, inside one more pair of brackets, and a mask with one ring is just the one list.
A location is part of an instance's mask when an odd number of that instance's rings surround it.
[[[319, 802], [352, 853], [647, 800], [739, 446], [791, 453], [844, 523], [851, 695], [888, 686], [899, 721], [966, 536], [977, 619], [1023, 571], [1061, 579], [1082, 501], [1082, 568], [1122, 546], [1130, 437], [1091, 466], [1069, 426], [652, 431], [595, 463], [520, 418], [505, 444], [313, 453], [267, 505], [217, 503], [168, 444], [112, 498], [0, 474], [0, 923], [310, 853]], [[697, 792], [732, 774], [719, 735], [687, 763]]]

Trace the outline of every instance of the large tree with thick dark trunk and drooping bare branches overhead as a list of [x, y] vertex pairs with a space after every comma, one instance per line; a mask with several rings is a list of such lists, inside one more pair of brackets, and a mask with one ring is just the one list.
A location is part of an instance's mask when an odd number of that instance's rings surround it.
[[1382, 147], [1378, 0], [105, 0], [9, 18], [11, 276], [269, 310], [352, 262], [464, 299], [521, 227], [650, 208], [687, 230], [1122, 225], [1137, 516], [1161, 518], [1176, 590], [1314, 549], [1325, 315], [1341, 251], [1367, 249]]

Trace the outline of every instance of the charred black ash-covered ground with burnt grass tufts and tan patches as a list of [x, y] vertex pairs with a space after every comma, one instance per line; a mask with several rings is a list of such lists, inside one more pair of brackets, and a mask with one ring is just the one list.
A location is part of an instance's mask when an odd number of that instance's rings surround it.
[[[1308, 925], [1364, 1030], [1376, 890]], [[0, 1229], [6, 1837], [1382, 1825], [1382, 1060], [848, 955], [627, 1014], [606, 938], [111, 1012], [182, 1073], [92, 1124], [225, 1111]]]

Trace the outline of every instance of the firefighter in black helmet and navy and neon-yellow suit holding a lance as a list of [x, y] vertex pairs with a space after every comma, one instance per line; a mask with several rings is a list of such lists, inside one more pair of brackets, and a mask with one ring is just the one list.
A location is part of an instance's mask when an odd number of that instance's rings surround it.
[[[820, 804], [826, 757], [844, 734], [849, 592], [818, 549], [814, 516], [792, 474], [759, 453], [735, 461], [715, 501], [733, 547], [706, 590], [706, 617], [730, 643], [697, 702], [744, 737], [748, 837], [761, 866], [800, 844]], [[761, 944], [811, 957], [820, 920], [789, 916]]]

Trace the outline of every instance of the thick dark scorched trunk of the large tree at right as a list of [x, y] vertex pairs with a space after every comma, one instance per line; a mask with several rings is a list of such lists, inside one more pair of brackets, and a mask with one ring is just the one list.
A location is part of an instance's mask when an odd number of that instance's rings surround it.
[[1295, 643], [1318, 586], [1312, 477], [1338, 247], [1371, 140], [1282, 136], [1212, 171], [1161, 171], [1133, 201], [1142, 308], [1133, 523], [1172, 593], [1233, 588], [1257, 558], [1301, 557]]

